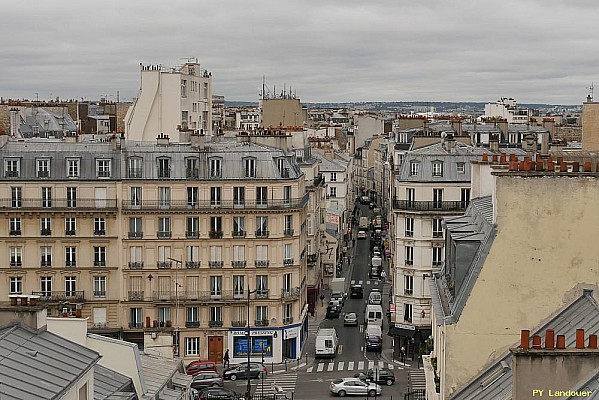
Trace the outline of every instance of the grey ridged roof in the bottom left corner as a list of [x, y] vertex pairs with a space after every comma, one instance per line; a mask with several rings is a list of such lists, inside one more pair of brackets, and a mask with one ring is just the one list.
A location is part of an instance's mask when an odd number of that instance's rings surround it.
[[48, 331], [20, 326], [0, 331], [2, 400], [60, 398], [100, 355]]

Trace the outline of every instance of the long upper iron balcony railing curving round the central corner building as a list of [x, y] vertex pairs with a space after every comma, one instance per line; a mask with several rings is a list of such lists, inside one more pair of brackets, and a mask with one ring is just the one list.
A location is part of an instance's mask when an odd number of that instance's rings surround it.
[[[269, 210], [277, 210], [277, 209], [288, 209], [288, 208], [301, 208], [308, 202], [309, 194], [306, 193], [303, 197], [293, 198], [293, 199], [279, 199], [273, 200], [248, 200], [246, 199], [243, 204], [239, 204], [239, 202], [234, 200], [221, 200], [218, 204], [215, 204], [210, 200], [198, 200], [194, 202], [188, 202], [187, 200], [171, 200], [168, 204], [165, 204], [160, 200], [142, 200], [139, 201], [130, 201], [123, 200], [122, 207], [124, 210], [135, 210], [135, 211], [159, 211], [159, 210], [171, 210], [171, 211], [186, 211], [186, 210], [201, 210], [207, 211], [212, 210], [214, 208], [218, 209], [269, 209]], [[5, 200], [7, 204], [11, 203], [10, 199]], [[27, 200], [23, 200], [27, 201]], [[31, 200], [35, 201], [36, 204], [41, 204], [39, 199]], [[54, 200], [60, 201], [60, 200]], [[65, 200], [66, 201], [66, 200]], [[77, 199], [77, 201], [81, 201]], [[95, 199], [90, 200], [95, 203]], [[106, 200], [106, 202], [114, 201], [116, 207], [116, 200]], [[108, 207], [108, 204], [107, 204]], [[80, 207], [78, 207], [80, 208]]]

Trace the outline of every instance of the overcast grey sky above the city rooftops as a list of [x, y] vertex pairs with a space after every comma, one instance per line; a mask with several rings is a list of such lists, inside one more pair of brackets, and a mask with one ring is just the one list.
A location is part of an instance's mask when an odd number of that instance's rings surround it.
[[303, 102], [581, 104], [599, 83], [597, 0], [18, 0], [1, 10], [5, 99], [119, 91], [129, 101], [139, 63], [186, 57], [227, 100], [257, 101], [263, 76]]

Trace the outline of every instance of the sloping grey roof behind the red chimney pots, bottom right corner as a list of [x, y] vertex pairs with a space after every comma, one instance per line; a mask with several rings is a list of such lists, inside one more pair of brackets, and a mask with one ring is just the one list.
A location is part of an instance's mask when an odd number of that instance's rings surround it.
[[[588, 332], [599, 331], [599, 305], [590, 293], [585, 293], [574, 302], [559, 310], [558, 313], [531, 332], [532, 336], [543, 334], [547, 329], [554, 329], [556, 335], [566, 336], [566, 348], [573, 347], [576, 343], [576, 329], [584, 329]], [[514, 344], [517, 347], [519, 343]], [[502, 362], [504, 363], [502, 366]], [[504, 368], [504, 366], [508, 368]], [[464, 388], [454, 394], [452, 400], [502, 400], [510, 399], [512, 394], [512, 354], [509, 350], [497, 361], [491, 364], [480, 375], [476, 376]], [[581, 388], [589, 387], [593, 392], [594, 399], [598, 399], [599, 371], [582, 383]], [[574, 388], [577, 389], [577, 388]], [[567, 390], [563, 388], [560, 390]], [[589, 397], [585, 397], [589, 399]]]

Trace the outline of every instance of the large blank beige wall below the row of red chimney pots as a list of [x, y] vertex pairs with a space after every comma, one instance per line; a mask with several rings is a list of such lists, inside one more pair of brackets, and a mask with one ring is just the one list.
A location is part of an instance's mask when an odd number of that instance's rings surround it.
[[521, 329], [539, 326], [583, 288], [597, 290], [598, 181], [497, 177], [497, 236], [460, 320], [446, 327], [445, 395], [517, 343]]

